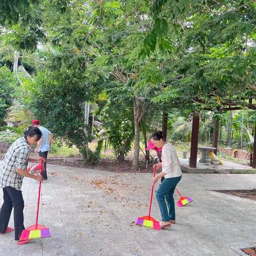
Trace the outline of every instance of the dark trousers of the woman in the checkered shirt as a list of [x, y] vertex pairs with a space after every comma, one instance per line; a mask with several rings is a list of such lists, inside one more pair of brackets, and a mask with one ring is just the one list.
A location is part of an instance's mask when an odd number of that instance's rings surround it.
[[22, 193], [20, 190], [17, 190], [13, 187], [3, 188], [4, 193], [4, 203], [0, 211], [0, 233], [5, 233], [8, 223], [10, 221], [12, 207], [14, 209], [14, 233], [15, 240], [19, 240], [19, 236], [24, 227], [24, 201]]

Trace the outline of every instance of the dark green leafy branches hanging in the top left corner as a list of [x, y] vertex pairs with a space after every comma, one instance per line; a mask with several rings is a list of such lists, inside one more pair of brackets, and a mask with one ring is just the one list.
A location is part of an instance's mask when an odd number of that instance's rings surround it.
[[11, 30], [9, 33], [3, 33], [3, 40], [15, 50], [36, 50], [38, 42], [46, 41], [44, 16], [50, 10], [65, 13], [68, 2], [67, 0], [0, 1], [0, 25]]

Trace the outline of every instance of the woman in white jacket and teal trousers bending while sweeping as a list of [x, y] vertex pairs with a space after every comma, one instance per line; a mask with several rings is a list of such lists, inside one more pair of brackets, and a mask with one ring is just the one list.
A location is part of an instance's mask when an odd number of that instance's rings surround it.
[[[173, 193], [175, 187], [181, 180], [179, 158], [174, 147], [164, 140], [163, 132], [153, 133], [151, 135], [151, 142], [157, 148], [162, 148], [162, 163], [155, 165], [156, 170], [162, 167], [162, 172], [157, 174], [152, 182], [155, 185], [158, 179], [161, 179], [162, 177], [165, 178], [156, 191], [156, 198], [162, 215], [160, 226], [162, 228], [170, 228], [171, 223], [175, 223], [175, 203]], [[166, 205], [165, 196], [170, 198], [168, 205]]]

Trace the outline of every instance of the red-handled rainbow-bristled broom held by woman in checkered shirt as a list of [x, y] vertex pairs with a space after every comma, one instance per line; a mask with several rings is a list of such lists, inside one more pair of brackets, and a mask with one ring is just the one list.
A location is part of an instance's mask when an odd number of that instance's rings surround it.
[[[44, 161], [44, 158], [42, 158], [42, 161], [41, 161], [41, 171], [40, 171], [41, 175], [43, 173], [43, 161]], [[41, 195], [41, 183], [42, 183], [42, 181], [39, 181], [36, 223], [35, 223], [35, 225], [32, 225], [29, 228], [22, 231], [22, 233], [20, 235], [20, 240], [45, 238], [45, 237], [51, 236], [49, 228], [46, 228], [43, 225], [38, 224], [39, 203], [40, 203], [40, 195]]]

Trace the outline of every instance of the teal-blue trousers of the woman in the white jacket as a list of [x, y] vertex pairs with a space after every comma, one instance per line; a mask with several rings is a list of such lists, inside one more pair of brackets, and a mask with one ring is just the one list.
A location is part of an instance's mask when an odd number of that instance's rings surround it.
[[[156, 191], [156, 199], [161, 211], [162, 221], [175, 220], [175, 203], [173, 193], [180, 180], [181, 176], [164, 179]], [[169, 211], [167, 210], [167, 206]]]

